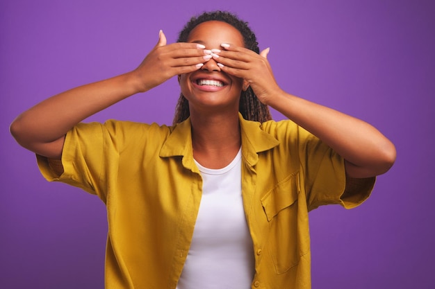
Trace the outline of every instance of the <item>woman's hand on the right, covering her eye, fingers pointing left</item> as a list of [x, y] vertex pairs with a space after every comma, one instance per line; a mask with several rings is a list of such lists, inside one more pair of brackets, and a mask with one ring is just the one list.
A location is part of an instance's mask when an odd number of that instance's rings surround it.
[[252, 87], [261, 103], [267, 105], [268, 100], [281, 91], [268, 62], [269, 50], [265, 49], [258, 55], [244, 47], [222, 44], [222, 49], [216, 53], [213, 51], [212, 55], [222, 71], [243, 78], [245, 85]]

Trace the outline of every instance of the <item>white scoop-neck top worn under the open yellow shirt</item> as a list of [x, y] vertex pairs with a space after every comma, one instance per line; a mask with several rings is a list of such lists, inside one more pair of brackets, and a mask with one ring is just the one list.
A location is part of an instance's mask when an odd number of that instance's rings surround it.
[[192, 243], [177, 289], [251, 288], [254, 253], [243, 211], [241, 158], [225, 168], [197, 164], [202, 199]]

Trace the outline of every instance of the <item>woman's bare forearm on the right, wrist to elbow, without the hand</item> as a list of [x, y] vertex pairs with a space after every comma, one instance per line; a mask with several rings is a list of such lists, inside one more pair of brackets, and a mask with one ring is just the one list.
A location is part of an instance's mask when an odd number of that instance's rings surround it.
[[268, 103], [327, 143], [347, 162], [350, 177], [385, 173], [395, 161], [395, 147], [372, 125], [329, 107], [286, 94]]

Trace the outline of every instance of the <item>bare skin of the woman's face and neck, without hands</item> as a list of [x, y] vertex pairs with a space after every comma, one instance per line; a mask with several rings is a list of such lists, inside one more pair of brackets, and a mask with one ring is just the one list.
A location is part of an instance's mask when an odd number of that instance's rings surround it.
[[[192, 30], [188, 42], [204, 44], [217, 53], [222, 43], [243, 46], [243, 37], [229, 24], [208, 21]], [[179, 77], [181, 92], [189, 100], [193, 155], [208, 168], [227, 166], [240, 148], [238, 103], [244, 84], [243, 78], [221, 70], [215, 53], [201, 69]], [[198, 79], [221, 80], [224, 86], [199, 86]]]

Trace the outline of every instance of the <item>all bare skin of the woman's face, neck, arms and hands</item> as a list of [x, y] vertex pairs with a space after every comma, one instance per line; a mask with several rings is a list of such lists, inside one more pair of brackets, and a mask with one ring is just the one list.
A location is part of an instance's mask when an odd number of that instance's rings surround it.
[[[344, 157], [348, 177], [380, 175], [393, 165], [393, 143], [372, 125], [283, 91], [274, 79], [268, 53], [269, 49], [259, 55], [245, 49], [240, 32], [220, 21], [196, 26], [188, 43], [167, 44], [161, 32], [138, 68], [48, 98], [20, 114], [10, 131], [24, 148], [60, 159], [65, 134], [76, 123], [178, 76], [189, 100], [194, 157], [203, 166], [222, 168], [238, 152], [238, 100], [247, 85], [262, 103]], [[199, 86], [199, 79], [219, 80], [223, 86]]]

